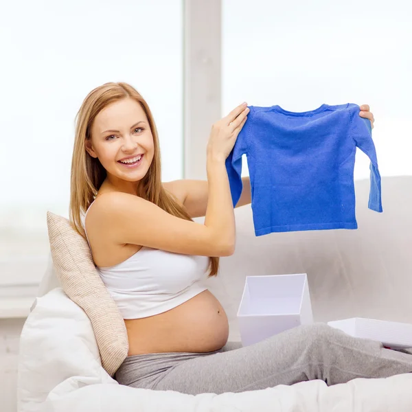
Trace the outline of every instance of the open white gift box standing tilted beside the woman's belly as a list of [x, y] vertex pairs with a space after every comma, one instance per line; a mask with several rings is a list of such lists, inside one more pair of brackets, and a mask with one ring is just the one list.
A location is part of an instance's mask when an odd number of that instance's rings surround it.
[[306, 273], [246, 277], [238, 309], [243, 346], [312, 322]]

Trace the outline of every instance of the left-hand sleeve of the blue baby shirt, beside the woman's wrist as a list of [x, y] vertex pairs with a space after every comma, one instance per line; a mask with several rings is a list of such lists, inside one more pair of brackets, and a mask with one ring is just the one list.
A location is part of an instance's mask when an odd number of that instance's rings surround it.
[[235, 146], [226, 159], [226, 170], [229, 178], [231, 198], [233, 207], [238, 204], [240, 195], [242, 194], [242, 155], [247, 153], [247, 141], [249, 129], [252, 122], [253, 106], [249, 106], [249, 113], [247, 115], [247, 121], [244, 123], [242, 130], [236, 139]]

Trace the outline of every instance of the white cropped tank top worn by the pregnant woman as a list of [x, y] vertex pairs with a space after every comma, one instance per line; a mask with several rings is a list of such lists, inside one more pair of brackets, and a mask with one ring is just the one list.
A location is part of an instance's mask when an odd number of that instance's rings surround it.
[[207, 256], [142, 247], [122, 263], [96, 269], [123, 319], [137, 319], [175, 308], [207, 290], [200, 282], [207, 278], [208, 266]]

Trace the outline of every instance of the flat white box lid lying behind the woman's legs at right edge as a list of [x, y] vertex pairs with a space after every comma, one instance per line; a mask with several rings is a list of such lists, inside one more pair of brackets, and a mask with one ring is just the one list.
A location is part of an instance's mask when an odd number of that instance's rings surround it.
[[331, 321], [328, 325], [355, 338], [381, 342], [391, 349], [412, 347], [412, 325], [409, 323], [378, 321], [376, 319], [350, 318]]

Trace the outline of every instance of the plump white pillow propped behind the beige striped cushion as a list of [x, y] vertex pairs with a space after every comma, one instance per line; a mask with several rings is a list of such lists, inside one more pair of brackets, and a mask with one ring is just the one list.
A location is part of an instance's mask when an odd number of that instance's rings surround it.
[[[45, 402], [50, 391], [72, 376], [87, 377], [87, 385], [119, 385], [102, 367], [89, 317], [62, 288], [56, 288], [36, 298], [21, 332], [18, 410], [37, 411], [36, 404]], [[71, 385], [79, 382], [73, 380]]]

